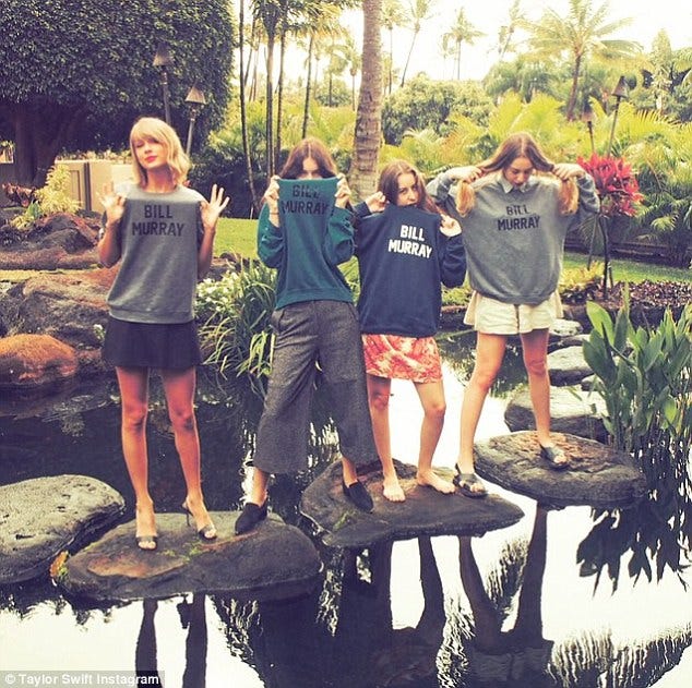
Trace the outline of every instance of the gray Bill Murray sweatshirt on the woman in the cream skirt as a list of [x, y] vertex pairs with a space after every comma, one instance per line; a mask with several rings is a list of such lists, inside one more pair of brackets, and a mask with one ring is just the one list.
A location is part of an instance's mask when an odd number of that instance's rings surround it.
[[[553, 178], [534, 174], [514, 189], [494, 172], [472, 184], [476, 203], [461, 224], [473, 289], [504, 303], [529, 305], [556, 291], [568, 231], [599, 208], [594, 180], [584, 174], [576, 183], [580, 201], [573, 215], [560, 214], [560, 182]], [[453, 200], [445, 174], [428, 189], [440, 205]]]

